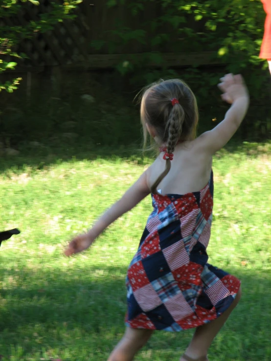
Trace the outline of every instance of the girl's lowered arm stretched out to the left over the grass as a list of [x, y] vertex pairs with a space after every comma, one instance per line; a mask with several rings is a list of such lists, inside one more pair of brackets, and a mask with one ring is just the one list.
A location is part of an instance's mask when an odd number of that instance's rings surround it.
[[150, 190], [147, 184], [146, 170], [136, 181], [136, 183], [115, 203], [109, 208], [93, 225], [87, 234], [82, 234], [75, 237], [65, 251], [66, 255], [72, 255], [84, 251], [93, 243], [110, 224], [112, 224], [122, 214], [134, 208], [142, 199], [144, 199]]

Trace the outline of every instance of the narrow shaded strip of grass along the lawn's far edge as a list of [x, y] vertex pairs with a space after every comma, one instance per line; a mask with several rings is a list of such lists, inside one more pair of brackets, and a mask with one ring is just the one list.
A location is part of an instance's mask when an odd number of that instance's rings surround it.
[[[222, 154], [242, 153], [250, 157], [256, 157], [271, 152], [271, 142], [249, 143], [236, 139], [231, 140]], [[128, 146], [108, 147], [102, 145], [88, 144], [86, 139], [78, 140], [76, 143], [50, 144], [44, 148], [31, 148], [24, 146], [17, 156], [2, 156], [0, 163], [0, 172], [6, 170], [23, 171], [27, 167], [33, 170], [46, 169], [54, 164], [61, 162], [72, 162], [80, 160], [110, 160], [118, 162], [126, 160], [136, 164], [145, 165], [151, 163], [154, 153], [142, 152], [140, 140], [137, 143]]]

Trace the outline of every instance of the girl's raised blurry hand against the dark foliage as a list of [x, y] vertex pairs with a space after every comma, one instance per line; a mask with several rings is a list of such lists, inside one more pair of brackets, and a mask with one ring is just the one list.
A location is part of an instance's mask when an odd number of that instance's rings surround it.
[[221, 97], [225, 102], [232, 104], [239, 98], [248, 98], [248, 90], [240, 74], [226, 74], [220, 81], [218, 87], [223, 91]]

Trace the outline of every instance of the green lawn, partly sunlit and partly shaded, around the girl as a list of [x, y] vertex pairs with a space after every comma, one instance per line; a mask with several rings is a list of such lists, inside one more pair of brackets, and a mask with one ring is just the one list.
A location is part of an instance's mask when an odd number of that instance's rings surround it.
[[[6, 359], [105, 361], [121, 337], [126, 269], [150, 199], [86, 253], [65, 258], [63, 249], [150, 163], [128, 153], [105, 149], [95, 159], [85, 150], [25, 151], [2, 161], [0, 227], [22, 231], [0, 248], [0, 353]], [[210, 360], [270, 361], [271, 144], [223, 150], [213, 169], [209, 261], [242, 279], [243, 298], [211, 346]], [[156, 332], [136, 360], [177, 361], [191, 335]]]

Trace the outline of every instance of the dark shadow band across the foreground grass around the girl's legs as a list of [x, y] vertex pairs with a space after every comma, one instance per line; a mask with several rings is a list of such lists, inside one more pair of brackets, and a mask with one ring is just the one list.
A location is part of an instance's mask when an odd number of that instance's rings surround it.
[[[126, 268], [107, 267], [100, 270], [104, 276], [88, 276], [95, 271], [91, 267], [78, 273], [48, 268], [6, 271], [10, 282], [19, 277], [21, 286], [0, 290], [0, 343], [6, 347], [23, 344], [29, 352], [33, 344], [25, 340], [39, 342], [40, 338], [46, 347], [54, 348], [59, 344], [65, 347], [65, 342], [76, 344], [77, 339], [88, 344], [91, 339], [91, 347], [102, 349], [105, 358], [124, 330]], [[232, 270], [232, 274], [242, 280], [243, 297], [222, 335], [244, 344], [254, 343], [264, 354], [266, 341], [271, 339], [271, 276], [245, 269]], [[185, 332], [185, 337], [182, 334], [180, 340], [178, 334], [156, 333], [149, 347], [163, 350], [177, 343], [185, 347], [191, 332]], [[264, 337], [259, 337], [260, 333]]]

